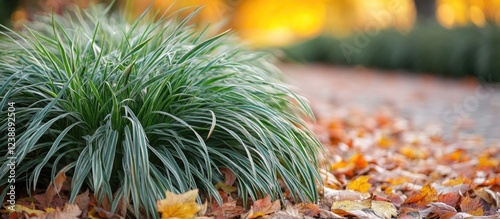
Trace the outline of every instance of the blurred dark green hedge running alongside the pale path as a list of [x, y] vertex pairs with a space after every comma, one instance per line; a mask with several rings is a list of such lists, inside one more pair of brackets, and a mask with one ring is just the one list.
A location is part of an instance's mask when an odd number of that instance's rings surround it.
[[446, 29], [436, 23], [420, 23], [406, 34], [389, 29], [358, 32], [346, 39], [319, 36], [283, 50], [286, 58], [294, 61], [475, 76], [500, 82], [500, 27], [493, 24]]

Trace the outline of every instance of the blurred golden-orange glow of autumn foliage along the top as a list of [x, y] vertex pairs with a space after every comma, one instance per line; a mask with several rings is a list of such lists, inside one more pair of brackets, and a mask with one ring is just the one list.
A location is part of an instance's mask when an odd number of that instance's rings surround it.
[[[67, 0], [80, 6], [97, 0]], [[46, 5], [56, 0], [45, 0]], [[414, 0], [122, 0], [132, 17], [150, 5], [167, 14], [179, 11], [187, 16], [196, 7], [203, 9], [193, 18], [202, 24], [220, 24], [236, 30], [256, 47], [283, 46], [319, 34], [348, 37], [355, 32], [396, 28], [411, 30], [416, 22]], [[56, 6], [54, 6], [56, 7]], [[20, 7], [12, 14], [14, 23], [27, 18]], [[500, 23], [500, 0], [436, 0], [436, 19], [446, 28]]]

